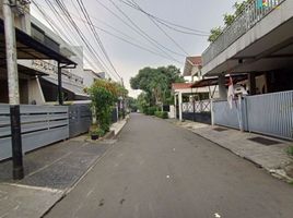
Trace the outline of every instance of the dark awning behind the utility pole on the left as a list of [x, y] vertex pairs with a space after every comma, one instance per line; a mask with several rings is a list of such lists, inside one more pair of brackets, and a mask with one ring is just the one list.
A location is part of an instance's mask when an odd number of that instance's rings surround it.
[[[56, 52], [46, 45], [32, 38], [26, 33], [15, 28], [16, 36], [16, 50], [17, 59], [45, 59], [56, 60], [61, 64], [77, 65], [75, 62], [71, 61], [67, 57]], [[4, 37], [4, 23], [0, 19], [0, 59], [5, 59], [5, 37]]]

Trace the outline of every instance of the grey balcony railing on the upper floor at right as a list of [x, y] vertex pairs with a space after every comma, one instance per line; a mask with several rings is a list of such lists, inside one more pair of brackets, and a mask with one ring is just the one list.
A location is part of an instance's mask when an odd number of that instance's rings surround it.
[[257, 0], [248, 1], [235, 21], [203, 51], [203, 65], [212, 61], [272, 10], [278, 9], [283, 1], [285, 0], [267, 0], [266, 5], [259, 5]]

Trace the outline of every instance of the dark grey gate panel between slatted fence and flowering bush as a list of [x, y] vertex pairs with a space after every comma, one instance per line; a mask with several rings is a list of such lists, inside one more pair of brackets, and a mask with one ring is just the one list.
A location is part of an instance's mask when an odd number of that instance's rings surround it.
[[89, 132], [92, 124], [90, 105], [69, 106], [69, 137]]

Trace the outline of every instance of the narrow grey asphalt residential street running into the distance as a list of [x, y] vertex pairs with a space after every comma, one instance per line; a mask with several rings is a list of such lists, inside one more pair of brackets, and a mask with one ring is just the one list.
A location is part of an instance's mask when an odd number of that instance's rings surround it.
[[293, 186], [166, 121], [131, 114], [114, 148], [45, 217], [292, 218]]

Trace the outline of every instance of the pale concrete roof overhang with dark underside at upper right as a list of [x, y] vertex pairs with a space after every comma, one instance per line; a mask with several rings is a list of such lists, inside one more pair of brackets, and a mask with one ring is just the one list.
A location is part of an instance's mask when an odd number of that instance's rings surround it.
[[[284, 1], [284, 3], [292, 4], [291, 1]], [[286, 8], [283, 7], [283, 9]], [[285, 16], [290, 19], [285, 20]], [[202, 75], [268, 72], [293, 68], [293, 32], [289, 29], [293, 29], [292, 10], [283, 12], [273, 10], [245, 35], [204, 64]]]

